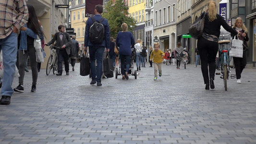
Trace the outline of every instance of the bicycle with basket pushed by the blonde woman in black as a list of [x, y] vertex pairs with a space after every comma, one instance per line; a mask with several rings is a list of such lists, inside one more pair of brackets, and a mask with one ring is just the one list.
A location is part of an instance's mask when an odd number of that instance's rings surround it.
[[[224, 36], [229, 36], [229, 35], [222, 35], [223, 38]], [[230, 73], [230, 60], [229, 60], [229, 48], [227, 48], [227, 45], [230, 43], [230, 40], [224, 39], [224, 40], [219, 40], [218, 44], [220, 45], [221, 48], [219, 48], [219, 60], [220, 60], [220, 72], [217, 72], [216, 75], [220, 75], [220, 78], [223, 79], [224, 82], [224, 87], [225, 91], [227, 91], [228, 86], [227, 86], [227, 80], [229, 77], [235, 78], [234, 74], [229, 74]]]

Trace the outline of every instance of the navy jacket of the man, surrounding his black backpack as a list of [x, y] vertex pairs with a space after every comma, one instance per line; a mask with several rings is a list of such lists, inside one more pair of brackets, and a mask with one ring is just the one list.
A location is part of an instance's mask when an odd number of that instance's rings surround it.
[[[94, 18], [96, 21], [99, 21], [102, 16], [99, 14], [95, 14]], [[87, 22], [86, 22], [86, 26], [85, 26], [85, 47], [88, 46], [102, 46], [105, 48], [110, 48], [110, 26], [108, 23], [107, 19], [104, 19], [102, 24], [104, 25], [104, 30], [105, 30], [105, 40], [103, 41], [102, 44], [92, 44], [89, 40], [89, 35], [90, 35], [90, 27], [93, 24], [93, 20], [91, 18], [88, 18]]]

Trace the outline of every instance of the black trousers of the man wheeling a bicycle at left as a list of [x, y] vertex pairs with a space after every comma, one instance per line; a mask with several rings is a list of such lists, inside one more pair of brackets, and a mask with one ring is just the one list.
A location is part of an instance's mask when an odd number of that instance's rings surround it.
[[66, 49], [60, 50], [58, 53], [58, 73], [62, 73], [62, 63], [64, 61], [65, 71], [69, 72], [69, 55]]

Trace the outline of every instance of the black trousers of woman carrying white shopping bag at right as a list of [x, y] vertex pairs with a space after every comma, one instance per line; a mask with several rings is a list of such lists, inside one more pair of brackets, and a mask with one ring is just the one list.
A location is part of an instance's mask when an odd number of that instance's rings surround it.
[[235, 75], [236, 79], [241, 79], [241, 73], [243, 72], [246, 65], [246, 51], [243, 53], [243, 58], [233, 57], [233, 61], [235, 64]]

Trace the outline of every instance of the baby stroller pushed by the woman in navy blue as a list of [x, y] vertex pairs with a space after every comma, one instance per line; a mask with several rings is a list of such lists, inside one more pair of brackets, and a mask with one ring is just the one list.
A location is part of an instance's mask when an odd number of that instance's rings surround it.
[[[137, 79], [137, 71], [134, 70], [134, 59], [135, 59], [135, 48], [132, 48], [132, 58], [131, 58], [131, 62], [130, 62], [130, 68], [129, 68], [129, 72], [128, 74], [130, 75], [134, 75], [134, 78]], [[124, 68], [124, 71], [126, 71], [126, 69]], [[121, 60], [119, 58], [119, 69], [116, 70], [116, 79], [118, 75], [121, 75]]]

